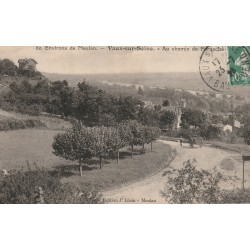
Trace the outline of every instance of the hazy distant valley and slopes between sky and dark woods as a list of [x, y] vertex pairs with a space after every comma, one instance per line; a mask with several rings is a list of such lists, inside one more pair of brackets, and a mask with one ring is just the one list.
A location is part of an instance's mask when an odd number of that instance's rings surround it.
[[[115, 96], [133, 96], [142, 101], [151, 101], [153, 104], [162, 104], [168, 99], [171, 105], [179, 105], [180, 100], [186, 101], [187, 107], [200, 108], [213, 113], [228, 113], [233, 108], [249, 101], [249, 92], [244, 95], [236, 91], [218, 93], [208, 88], [200, 80], [197, 73], [154, 73], [154, 74], [99, 74], [99, 75], [60, 75], [46, 74], [50, 80], [66, 79], [69, 85], [76, 86], [86, 79], [96, 86]], [[139, 94], [139, 86], [144, 93]], [[238, 89], [238, 92], [244, 88]], [[195, 91], [203, 92], [195, 92]], [[232, 96], [231, 96], [232, 95]], [[244, 97], [245, 96], [245, 97]], [[233, 102], [233, 104], [232, 104]]]

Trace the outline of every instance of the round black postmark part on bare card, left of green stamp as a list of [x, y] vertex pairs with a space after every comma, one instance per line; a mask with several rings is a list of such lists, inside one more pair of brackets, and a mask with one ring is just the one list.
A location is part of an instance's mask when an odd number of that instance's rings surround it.
[[199, 70], [202, 80], [216, 91], [229, 90], [227, 47], [208, 46], [200, 57]]

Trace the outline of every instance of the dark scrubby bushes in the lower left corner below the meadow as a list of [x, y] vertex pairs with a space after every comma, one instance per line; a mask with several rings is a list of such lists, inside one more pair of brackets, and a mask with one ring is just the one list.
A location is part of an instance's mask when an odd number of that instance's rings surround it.
[[87, 191], [86, 187], [62, 184], [60, 175], [55, 172], [36, 169], [12, 171], [7, 176], [1, 176], [0, 203], [39, 203], [38, 188], [43, 191], [40, 201], [48, 204], [99, 203], [101, 198], [98, 193]]

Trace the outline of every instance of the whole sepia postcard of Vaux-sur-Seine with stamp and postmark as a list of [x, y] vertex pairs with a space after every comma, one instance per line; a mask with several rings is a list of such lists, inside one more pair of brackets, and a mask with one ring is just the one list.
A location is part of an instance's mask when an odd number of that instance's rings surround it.
[[250, 203], [250, 46], [0, 47], [1, 204]]

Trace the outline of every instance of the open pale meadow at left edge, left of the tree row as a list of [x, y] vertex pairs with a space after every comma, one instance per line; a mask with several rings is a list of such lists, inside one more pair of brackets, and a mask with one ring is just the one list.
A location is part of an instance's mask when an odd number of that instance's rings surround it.
[[27, 161], [45, 168], [67, 163], [52, 154], [51, 144], [58, 132], [41, 129], [0, 132], [0, 168], [22, 168], [27, 166]]

